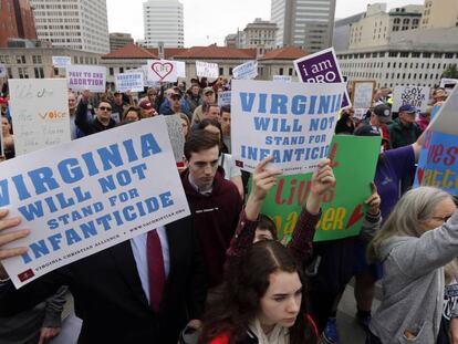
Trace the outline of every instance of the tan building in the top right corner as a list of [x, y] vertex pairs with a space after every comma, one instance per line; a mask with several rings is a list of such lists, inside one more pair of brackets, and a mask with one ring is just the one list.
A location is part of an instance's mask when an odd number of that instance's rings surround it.
[[458, 27], [458, 1], [426, 0], [421, 18], [423, 29]]

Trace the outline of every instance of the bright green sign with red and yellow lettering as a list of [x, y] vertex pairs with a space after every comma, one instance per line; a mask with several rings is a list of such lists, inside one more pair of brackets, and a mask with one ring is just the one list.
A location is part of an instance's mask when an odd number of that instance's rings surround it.
[[[335, 188], [323, 197], [323, 215], [314, 241], [357, 236], [364, 217], [364, 200], [371, 195], [381, 149], [379, 137], [336, 135], [330, 158], [336, 179]], [[279, 238], [290, 236], [301, 212], [301, 204], [311, 188], [312, 174], [284, 176], [270, 189], [262, 213], [277, 225]]]

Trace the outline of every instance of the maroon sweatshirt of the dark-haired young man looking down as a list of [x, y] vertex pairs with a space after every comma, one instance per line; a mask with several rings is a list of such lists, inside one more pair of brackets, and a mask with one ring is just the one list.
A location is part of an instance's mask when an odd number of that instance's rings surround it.
[[221, 167], [215, 176], [209, 196], [199, 194], [189, 183], [189, 171], [181, 181], [194, 217], [194, 228], [200, 239], [207, 265], [209, 286], [222, 282], [226, 250], [237, 228], [242, 200], [236, 185], [225, 179]]

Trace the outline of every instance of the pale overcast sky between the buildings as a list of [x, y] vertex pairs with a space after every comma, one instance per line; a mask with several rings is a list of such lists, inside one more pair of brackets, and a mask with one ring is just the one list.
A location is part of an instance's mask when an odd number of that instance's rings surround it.
[[[144, 0], [106, 0], [108, 31], [127, 32], [143, 39]], [[270, 0], [180, 0], [185, 12], [185, 46], [223, 45], [225, 37], [244, 29], [254, 18], [270, 19]], [[335, 18], [365, 11], [367, 3], [383, 1], [336, 0]], [[423, 4], [425, 0], [389, 0], [388, 9]]]

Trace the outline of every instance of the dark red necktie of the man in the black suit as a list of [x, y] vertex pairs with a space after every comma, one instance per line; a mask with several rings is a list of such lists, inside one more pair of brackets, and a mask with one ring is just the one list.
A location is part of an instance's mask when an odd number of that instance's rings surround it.
[[163, 248], [157, 230], [148, 232], [146, 241], [146, 256], [148, 258], [149, 305], [156, 313], [159, 312], [165, 285], [165, 269]]

